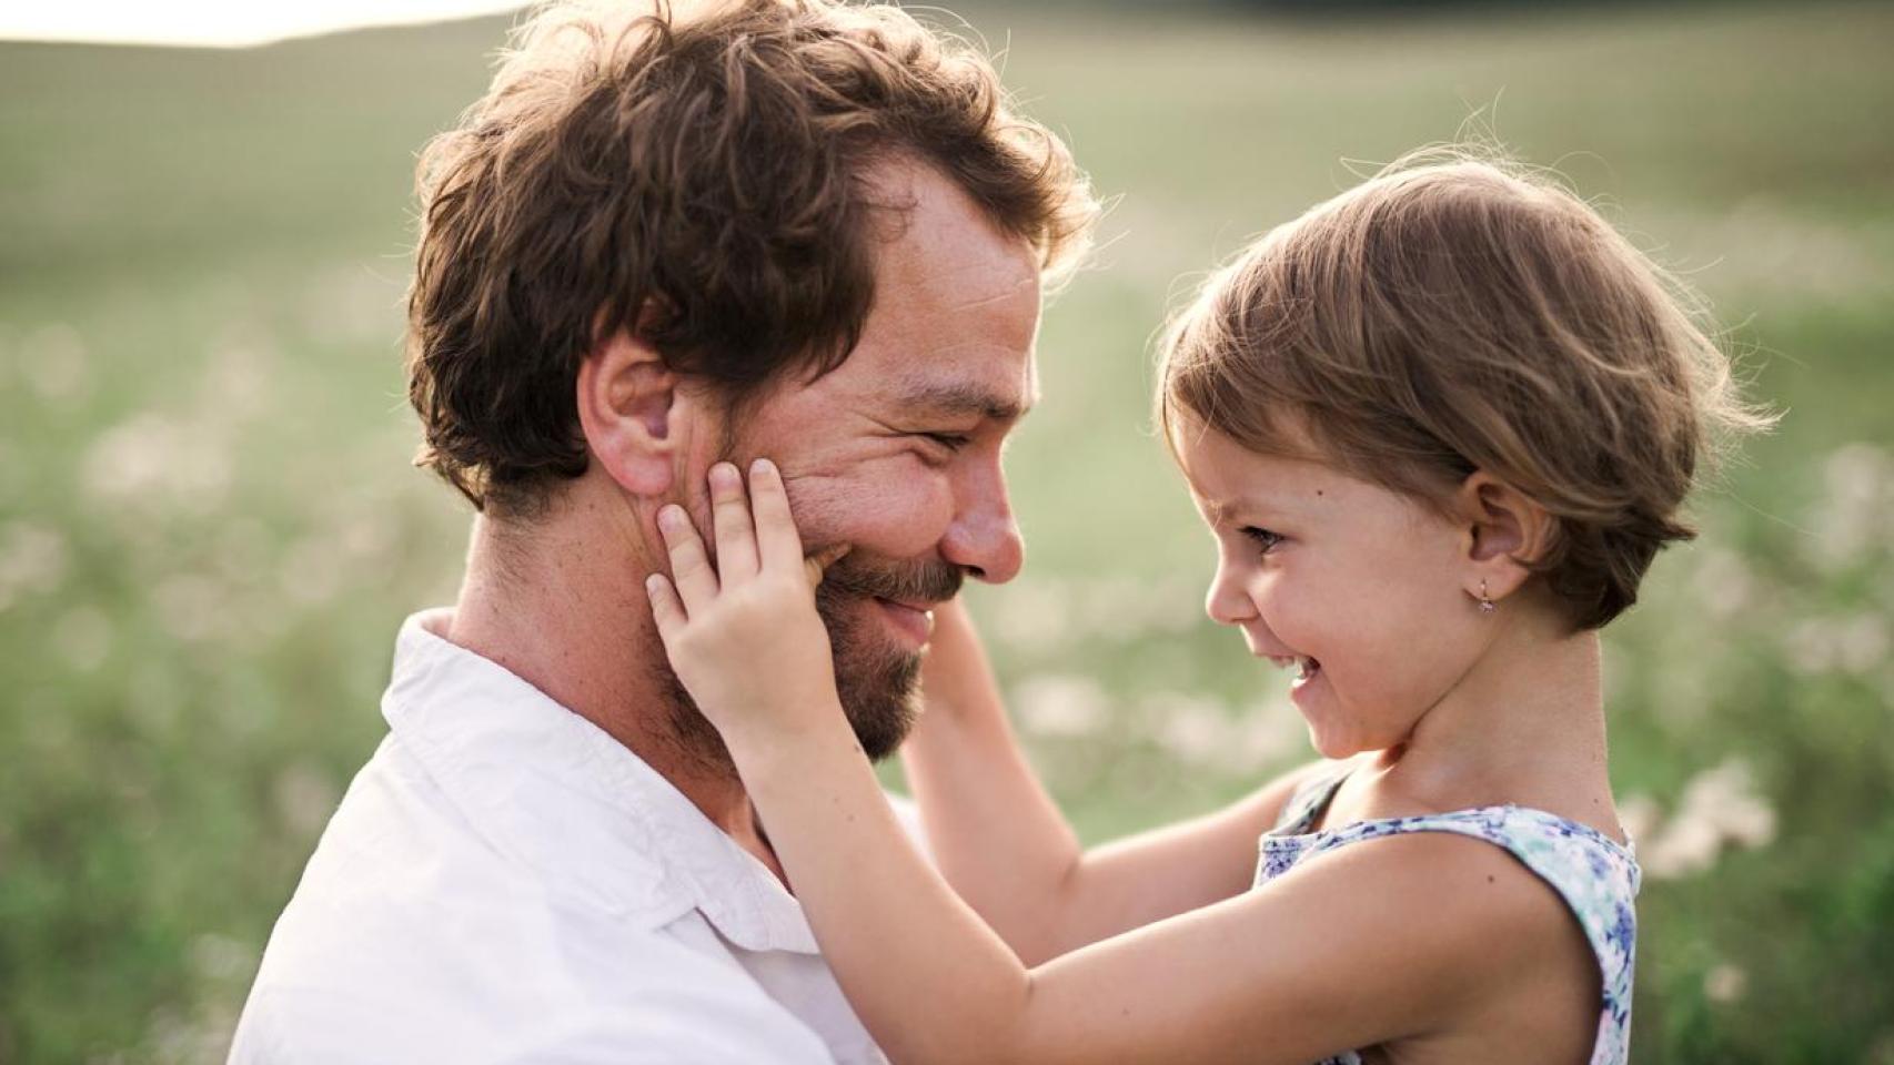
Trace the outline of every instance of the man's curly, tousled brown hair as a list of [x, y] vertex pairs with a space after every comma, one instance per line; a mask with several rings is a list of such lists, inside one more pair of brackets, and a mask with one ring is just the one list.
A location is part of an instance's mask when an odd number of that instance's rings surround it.
[[[991, 62], [892, 6], [559, 2], [420, 157], [409, 399], [426, 465], [527, 515], [587, 467], [576, 375], [633, 329], [735, 403], [837, 367], [875, 299], [867, 170], [949, 176], [1042, 271], [1097, 204]], [[894, 204], [898, 206], [898, 204]]]

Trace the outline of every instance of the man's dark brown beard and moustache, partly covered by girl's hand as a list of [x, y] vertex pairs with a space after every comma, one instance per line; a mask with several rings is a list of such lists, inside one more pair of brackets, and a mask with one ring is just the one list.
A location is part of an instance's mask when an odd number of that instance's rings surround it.
[[[888, 643], [875, 600], [945, 602], [960, 594], [964, 571], [949, 562], [883, 562], [849, 552], [816, 586], [816, 613], [830, 634], [835, 694], [869, 759], [900, 749], [920, 715], [920, 651]], [[678, 753], [716, 768], [735, 768], [716, 726], [697, 709], [670, 662], [659, 658]]]

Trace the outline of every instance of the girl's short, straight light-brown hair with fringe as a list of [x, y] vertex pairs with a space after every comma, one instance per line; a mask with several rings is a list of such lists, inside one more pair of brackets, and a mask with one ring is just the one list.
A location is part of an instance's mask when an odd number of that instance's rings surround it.
[[[1530, 560], [1580, 628], [1636, 602], [1746, 405], [1697, 301], [1576, 195], [1428, 149], [1290, 221], [1169, 325], [1157, 414], [1443, 505], [1483, 469], [1555, 520]], [[1314, 454], [1309, 454], [1311, 445]]]

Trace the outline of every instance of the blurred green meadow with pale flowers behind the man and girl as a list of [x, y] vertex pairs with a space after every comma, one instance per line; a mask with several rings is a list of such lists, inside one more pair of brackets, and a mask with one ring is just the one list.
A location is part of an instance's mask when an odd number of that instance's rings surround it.
[[[1712, 299], [1788, 409], [1612, 630], [1636, 1061], [1894, 1063], [1894, 8], [964, 11], [1116, 197], [975, 607], [1089, 840], [1307, 757], [1197, 607], [1148, 339], [1252, 233], [1472, 129]], [[0, 1061], [220, 1061], [466, 513], [407, 467], [413, 151], [504, 21], [0, 44]]]

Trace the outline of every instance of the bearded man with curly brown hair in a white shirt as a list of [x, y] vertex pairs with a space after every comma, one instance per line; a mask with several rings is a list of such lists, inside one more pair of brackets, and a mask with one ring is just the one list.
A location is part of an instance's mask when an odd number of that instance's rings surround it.
[[233, 1061], [881, 1061], [670, 673], [653, 515], [777, 460], [867, 751], [928, 607], [1008, 581], [1000, 445], [1095, 204], [894, 8], [555, 6], [420, 168], [420, 463], [479, 511]]

